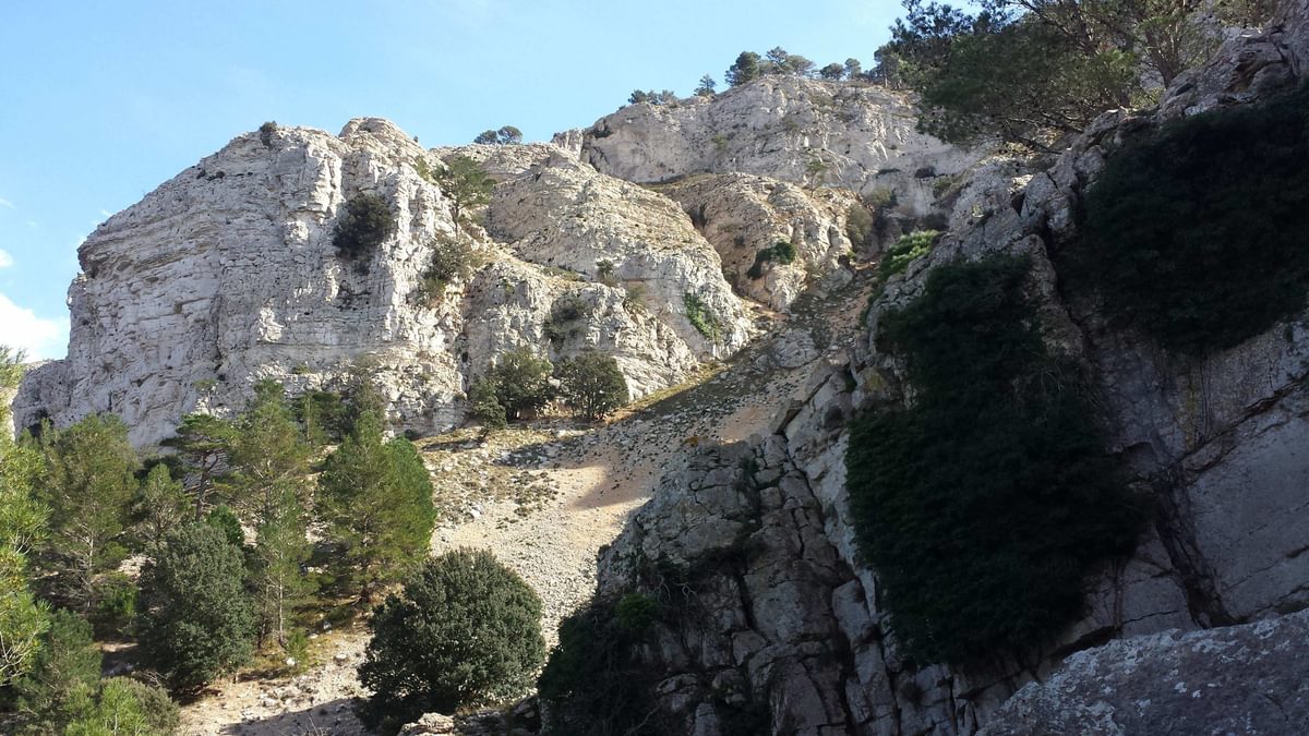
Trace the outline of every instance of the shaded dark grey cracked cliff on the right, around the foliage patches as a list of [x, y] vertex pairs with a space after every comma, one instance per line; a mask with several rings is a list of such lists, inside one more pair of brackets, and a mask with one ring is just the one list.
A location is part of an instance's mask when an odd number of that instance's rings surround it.
[[[1293, 5], [1179, 79], [1158, 111], [1098, 119], [1050, 169], [979, 172], [958, 194], [950, 233], [890, 280], [855, 347], [814, 373], [771, 436], [704, 448], [662, 481], [602, 557], [598, 591], [682, 591], [679, 619], [654, 625], [641, 655], [678, 731], [728, 733], [751, 714], [772, 733], [802, 735], [1309, 727], [1302, 616], [1278, 618], [1309, 605], [1309, 314], [1179, 360], [1109, 325], [1093, 300], [1069, 297], [1050, 257], [1076, 236], [1084, 191], [1124, 144], [1302, 79], [1309, 10]], [[1046, 339], [1097, 376], [1111, 449], [1155, 509], [1136, 551], [1094, 578], [1083, 618], [1056, 642], [1021, 661], [924, 665], [889, 631], [877, 578], [860, 562], [846, 423], [910, 401], [903, 361], [874, 339], [881, 317], [922, 293], [939, 266], [996, 253], [1030, 258]], [[1250, 621], [1259, 623], [1215, 629]]]

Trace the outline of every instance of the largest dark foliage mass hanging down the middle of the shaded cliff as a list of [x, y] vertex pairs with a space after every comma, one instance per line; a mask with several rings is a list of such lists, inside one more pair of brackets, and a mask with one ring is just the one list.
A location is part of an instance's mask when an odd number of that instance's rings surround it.
[[856, 538], [919, 664], [1049, 640], [1140, 528], [1080, 372], [1042, 340], [1028, 271], [1005, 255], [933, 270], [878, 337], [905, 356], [912, 406], [851, 427]]

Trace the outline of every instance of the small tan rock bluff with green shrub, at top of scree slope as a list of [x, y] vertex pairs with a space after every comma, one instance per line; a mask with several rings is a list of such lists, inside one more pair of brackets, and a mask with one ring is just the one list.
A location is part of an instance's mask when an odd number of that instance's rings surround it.
[[[847, 236], [850, 190], [801, 189], [750, 174], [695, 175], [660, 191], [674, 199], [723, 258], [737, 293], [787, 312], [800, 293], [818, 283], [850, 280], [853, 244]], [[795, 248], [795, 262], [759, 262], [779, 242]], [[755, 263], [758, 276], [751, 274]]]

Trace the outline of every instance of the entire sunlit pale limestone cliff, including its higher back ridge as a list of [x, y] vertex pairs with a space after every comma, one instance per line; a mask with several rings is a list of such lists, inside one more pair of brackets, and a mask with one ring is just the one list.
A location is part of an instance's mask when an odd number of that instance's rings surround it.
[[[238, 409], [260, 378], [296, 394], [334, 390], [365, 368], [398, 428], [432, 431], [462, 420], [470, 381], [520, 344], [552, 359], [610, 351], [643, 396], [740, 350], [757, 331], [749, 301], [785, 310], [808, 285], [848, 279], [856, 195], [800, 182], [867, 190], [876, 169], [878, 187], [903, 190], [891, 219], [912, 219], [929, 210], [937, 175], [923, 162], [944, 174], [971, 160], [912, 134], [905, 100], [867, 85], [768, 79], [712, 103], [619, 115], [635, 122], [610, 117], [548, 144], [431, 151], [372, 118], [338, 136], [295, 127], [238, 136], [86, 238], [68, 296], [68, 358], [29, 373], [17, 426], [109, 411], [134, 443], [152, 444], [186, 413]], [[690, 143], [620, 145], [654, 128]], [[726, 157], [715, 140], [728, 141]], [[652, 151], [672, 158], [652, 164]], [[454, 155], [499, 186], [479, 215], [484, 229], [463, 228], [483, 266], [432, 299], [433, 249], [462, 236], [452, 200], [416, 164], [440, 169]], [[827, 161], [822, 172], [806, 168], [816, 160]], [[709, 161], [787, 181], [632, 183]], [[331, 242], [359, 194], [382, 196], [398, 229], [356, 265]], [[797, 258], [745, 275], [778, 241]], [[704, 312], [699, 327], [689, 299]]]

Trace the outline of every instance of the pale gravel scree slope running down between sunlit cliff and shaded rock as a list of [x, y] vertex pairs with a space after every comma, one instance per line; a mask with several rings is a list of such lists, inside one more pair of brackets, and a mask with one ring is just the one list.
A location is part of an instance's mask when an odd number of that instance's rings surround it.
[[[445, 517], [433, 553], [493, 551], [541, 595], [554, 644], [559, 621], [594, 589], [600, 547], [677, 456], [700, 441], [767, 433], [778, 410], [801, 398], [813, 367], [846, 347], [850, 335], [834, 339], [833, 326], [852, 326], [865, 295], [851, 284], [802, 299], [720, 372], [602, 427], [546, 419], [487, 441], [471, 430], [419, 440]], [[357, 627], [319, 635], [322, 665], [296, 678], [223, 684], [183, 708], [183, 733], [363, 733], [350, 702], [365, 694], [355, 668], [367, 642]]]

